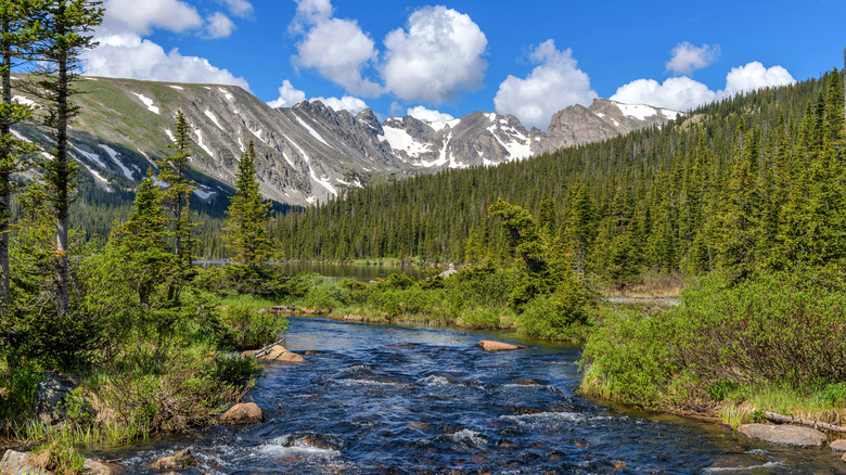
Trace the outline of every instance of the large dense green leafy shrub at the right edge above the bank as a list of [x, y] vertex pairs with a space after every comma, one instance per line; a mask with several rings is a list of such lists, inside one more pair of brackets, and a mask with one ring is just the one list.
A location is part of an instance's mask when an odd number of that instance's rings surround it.
[[682, 301], [667, 313], [678, 322], [672, 341], [685, 364], [707, 380], [793, 388], [846, 381], [846, 294], [813, 272], [736, 284], [710, 275]]

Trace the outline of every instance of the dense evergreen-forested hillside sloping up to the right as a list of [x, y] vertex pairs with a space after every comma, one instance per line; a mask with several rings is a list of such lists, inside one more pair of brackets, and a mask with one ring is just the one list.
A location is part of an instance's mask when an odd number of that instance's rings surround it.
[[740, 273], [846, 251], [844, 94], [819, 79], [714, 103], [662, 129], [354, 190], [277, 221], [287, 259], [473, 261], [508, 252], [503, 198], [567, 233], [578, 266]]

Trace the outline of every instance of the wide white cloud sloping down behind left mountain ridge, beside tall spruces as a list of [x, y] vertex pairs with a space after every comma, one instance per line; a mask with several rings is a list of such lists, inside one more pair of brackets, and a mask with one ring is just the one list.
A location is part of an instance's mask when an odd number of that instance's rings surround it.
[[204, 57], [183, 56], [177, 49], [166, 53], [161, 46], [136, 34], [105, 34], [97, 40], [100, 46], [81, 56], [86, 76], [232, 85], [249, 90], [244, 78], [213, 66]]

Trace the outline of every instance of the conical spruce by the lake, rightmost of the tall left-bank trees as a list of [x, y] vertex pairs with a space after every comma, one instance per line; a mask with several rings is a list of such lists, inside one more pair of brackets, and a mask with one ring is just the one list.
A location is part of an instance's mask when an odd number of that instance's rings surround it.
[[241, 156], [235, 175], [235, 194], [230, 197], [227, 209], [227, 227], [229, 233], [227, 245], [236, 254], [240, 264], [248, 267], [259, 267], [272, 252], [268, 239], [270, 223], [270, 203], [261, 198], [256, 181], [256, 151], [253, 141]]

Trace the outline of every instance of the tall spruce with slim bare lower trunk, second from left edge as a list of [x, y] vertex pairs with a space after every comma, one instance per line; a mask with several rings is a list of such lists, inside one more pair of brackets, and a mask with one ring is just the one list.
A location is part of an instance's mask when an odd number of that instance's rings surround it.
[[52, 159], [43, 164], [44, 181], [56, 221], [56, 294], [57, 311], [68, 311], [67, 231], [70, 203], [74, 198], [76, 166], [68, 152], [68, 126], [79, 114], [70, 102], [79, 93], [74, 84], [79, 78], [79, 56], [97, 46], [89, 35], [103, 21], [102, 2], [90, 0], [49, 0], [38, 18], [43, 28], [35, 49], [40, 68], [27, 91], [43, 103], [43, 125], [51, 131]]

